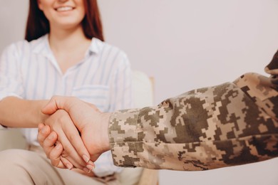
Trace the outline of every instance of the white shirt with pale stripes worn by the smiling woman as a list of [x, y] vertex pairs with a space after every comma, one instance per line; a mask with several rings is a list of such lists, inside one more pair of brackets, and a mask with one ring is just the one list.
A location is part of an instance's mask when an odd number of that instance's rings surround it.
[[[48, 35], [7, 47], [0, 60], [0, 100], [16, 96], [49, 100], [53, 95], [75, 96], [103, 112], [133, 105], [130, 63], [123, 51], [93, 38], [85, 57], [61, 73], [48, 44]], [[38, 145], [37, 129], [22, 129], [29, 144]], [[110, 152], [96, 162], [96, 175], [119, 171]]]

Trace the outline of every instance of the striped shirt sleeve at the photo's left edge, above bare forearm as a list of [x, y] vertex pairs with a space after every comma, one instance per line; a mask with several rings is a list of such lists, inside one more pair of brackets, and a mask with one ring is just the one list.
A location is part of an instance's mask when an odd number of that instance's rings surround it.
[[[24, 94], [19, 62], [16, 44], [5, 48], [0, 58], [0, 101], [8, 96], [21, 98]], [[0, 125], [0, 129], [4, 128]]]

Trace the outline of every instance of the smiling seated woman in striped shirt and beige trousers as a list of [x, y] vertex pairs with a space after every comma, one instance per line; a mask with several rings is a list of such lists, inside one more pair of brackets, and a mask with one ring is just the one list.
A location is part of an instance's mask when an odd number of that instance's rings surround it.
[[[96, 0], [30, 0], [26, 41], [7, 47], [0, 61], [0, 123], [4, 127], [24, 128], [29, 151], [0, 152], [1, 182], [97, 184], [88, 176], [111, 179], [121, 171], [113, 166], [111, 154], [102, 155], [94, 169], [83, 144], [78, 146], [82, 150], [79, 153], [70, 147], [73, 156], [83, 160], [82, 164], [74, 160], [70, 163], [63, 157], [61, 160], [65, 168], [76, 166], [87, 173], [53, 168], [38, 147], [36, 127], [41, 122], [50, 125], [60, 134], [61, 144], [70, 143], [72, 138], [67, 138], [59, 125], [59, 121], [66, 120], [67, 128], [78, 132], [68, 113], [41, 113], [50, 97], [76, 96], [103, 111], [128, 108], [133, 103], [130, 79], [125, 53], [103, 42]], [[11, 178], [11, 174], [16, 175]]]

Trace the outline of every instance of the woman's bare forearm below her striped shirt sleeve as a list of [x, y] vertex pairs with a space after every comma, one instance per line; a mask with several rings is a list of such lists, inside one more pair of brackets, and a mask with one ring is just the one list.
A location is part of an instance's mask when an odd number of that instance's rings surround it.
[[41, 108], [48, 100], [22, 100], [5, 97], [0, 101], [0, 124], [6, 127], [32, 128], [43, 122], [46, 115]]

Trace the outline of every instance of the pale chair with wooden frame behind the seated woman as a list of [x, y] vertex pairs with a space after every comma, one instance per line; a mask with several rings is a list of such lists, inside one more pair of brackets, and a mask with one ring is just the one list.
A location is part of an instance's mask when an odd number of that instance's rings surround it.
[[[134, 107], [147, 107], [154, 104], [153, 78], [149, 78], [145, 73], [133, 71], [133, 96]], [[0, 151], [4, 149], [26, 149], [26, 140], [19, 129], [0, 130]], [[141, 173], [138, 179], [139, 185], [158, 184], [158, 171], [153, 169], [137, 170]]]

